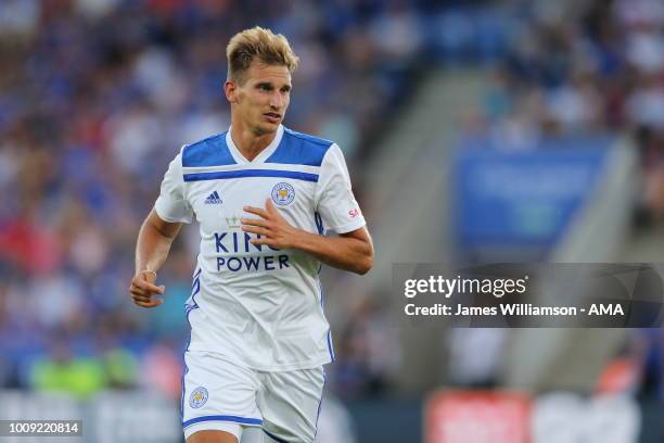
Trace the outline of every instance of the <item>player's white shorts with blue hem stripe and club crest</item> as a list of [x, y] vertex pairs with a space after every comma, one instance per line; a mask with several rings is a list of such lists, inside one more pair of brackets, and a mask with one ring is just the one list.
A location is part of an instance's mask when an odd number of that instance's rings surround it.
[[[264, 372], [221, 354], [187, 351], [182, 375], [184, 438], [202, 430], [261, 428], [274, 442], [312, 443], [324, 387], [322, 366]], [[270, 441], [270, 439], [266, 439]]]

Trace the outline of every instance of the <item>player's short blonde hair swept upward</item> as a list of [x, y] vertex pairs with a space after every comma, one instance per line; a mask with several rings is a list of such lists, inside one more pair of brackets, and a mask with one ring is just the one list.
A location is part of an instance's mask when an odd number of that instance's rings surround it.
[[299, 58], [291, 49], [289, 40], [281, 34], [272, 34], [260, 26], [235, 34], [226, 47], [228, 79], [244, 83], [246, 72], [254, 59], [268, 65], [283, 65], [293, 73]]

